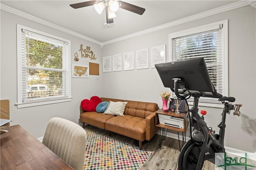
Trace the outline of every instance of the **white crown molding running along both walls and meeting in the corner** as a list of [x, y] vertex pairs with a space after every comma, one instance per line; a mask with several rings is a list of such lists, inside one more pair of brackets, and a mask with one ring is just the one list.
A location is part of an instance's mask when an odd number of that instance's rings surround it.
[[126, 35], [126, 36], [119, 37], [119, 38], [112, 39], [110, 41], [105, 41], [105, 42], [96, 41], [96, 40], [91, 39], [89, 37], [86, 37], [82, 34], [79, 34], [79, 33], [76, 33], [74, 31], [71, 31], [69, 29], [60, 27], [60, 26], [55, 25], [53, 23], [50, 23], [48, 21], [44, 21], [40, 18], [36, 18], [34, 16], [31, 16], [29, 14], [26, 14], [24, 12], [21, 12], [19, 10], [16, 10], [14, 8], [6, 6], [4, 4], [0, 4], [0, 10], [4, 10], [6, 12], [9, 12], [11, 14], [20, 16], [22, 18], [26, 18], [28, 20], [31, 20], [31, 21], [40, 23], [42, 25], [57, 29], [59, 31], [68, 33], [70, 35], [74, 35], [74, 36], [79, 37], [81, 39], [84, 39], [84, 40], [90, 41], [92, 43], [98, 44], [98, 45], [100, 45], [100, 47], [103, 47], [104, 45], [108, 45], [108, 44], [116, 43], [118, 41], [123, 41], [123, 40], [126, 40], [126, 39], [138, 37], [140, 35], [145, 35], [145, 34], [148, 34], [148, 33], [152, 33], [152, 32], [159, 31], [159, 30], [162, 30], [162, 29], [166, 29], [166, 28], [169, 28], [169, 27], [173, 27], [173, 26], [176, 26], [176, 25], [187, 23], [187, 22], [190, 22], [190, 21], [194, 21], [194, 20], [198, 20], [198, 19], [205, 18], [205, 17], [208, 17], [208, 16], [212, 16], [212, 15], [215, 15], [215, 14], [219, 14], [219, 13], [222, 13], [222, 12], [226, 12], [226, 11], [229, 11], [229, 10], [234, 10], [236, 8], [240, 8], [240, 7], [247, 6], [247, 5], [251, 5], [251, 6], [255, 7], [256, 6], [256, 1], [253, 0], [253, 2], [252, 2], [252, 0], [241, 0], [241, 1], [238, 1], [238, 2], [234, 2], [232, 4], [228, 4], [226, 6], [215, 8], [215, 9], [212, 9], [212, 10], [209, 10], [209, 11], [206, 11], [206, 12], [195, 14], [193, 16], [189, 16], [189, 17], [186, 17], [186, 18], [182, 18], [180, 20], [165, 23], [165, 24], [159, 25], [157, 27], [152, 27], [150, 29], [145, 29], [145, 30], [139, 31], [137, 33], [133, 33], [133, 34], [130, 34], [130, 35]]

